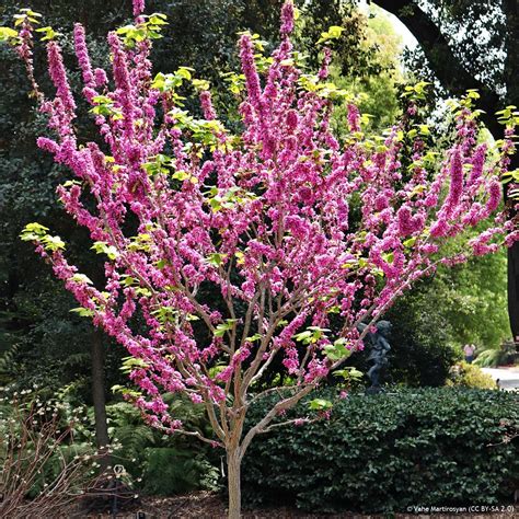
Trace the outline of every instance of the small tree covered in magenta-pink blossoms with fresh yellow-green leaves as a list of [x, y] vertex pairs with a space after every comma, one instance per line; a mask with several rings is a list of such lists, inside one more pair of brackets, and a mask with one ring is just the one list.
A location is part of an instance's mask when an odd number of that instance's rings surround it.
[[[92, 68], [84, 30], [74, 27], [82, 93], [102, 143], [82, 142], [74, 132], [77, 105], [51, 28], [38, 31], [48, 39], [53, 100], [32, 72], [35, 13], [22, 12], [19, 32], [3, 30], [55, 135], [37, 143], [74, 174], [58, 188], [59, 198], [106, 256], [105, 286], [70, 265], [65, 243], [45, 227], [30, 223], [22, 238], [35, 242], [81, 304], [78, 311], [128, 349], [129, 377], [140, 392], [127, 397], [146, 419], [226, 449], [229, 516], [237, 518], [240, 464], [255, 435], [280, 425], [273, 420], [332, 371], [347, 377], [338, 368], [413, 281], [440, 263], [518, 239], [516, 222], [498, 211], [500, 177], [514, 178], [507, 173], [514, 114], [495, 149], [478, 145], [477, 113], [470, 109], [477, 94], [470, 92], [455, 107], [451, 148], [439, 157], [428, 146], [428, 128], [413, 124], [418, 84], [407, 88], [402, 120], [384, 137], [369, 138], [347, 92], [326, 79], [330, 50], [316, 76], [303, 72], [287, 1], [270, 58], [255, 36], [241, 36], [243, 74], [230, 81], [242, 129], [231, 135], [208, 84], [189, 69], [152, 77], [151, 43], [165, 21], [142, 11], [143, 2], [134, 1], [135, 24], [108, 35], [113, 83]], [[322, 39], [339, 34], [332, 27]], [[189, 82], [199, 90], [203, 119], [182, 109], [178, 88]], [[342, 142], [330, 130], [336, 99], [348, 103]], [[468, 239], [465, 230], [485, 219], [493, 226]], [[208, 288], [218, 293], [211, 303], [203, 297]], [[342, 323], [334, 336], [331, 316]], [[136, 326], [137, 319], [145, 325]], [[276, 357], [290, 383], [275, 389], [278, 401], [245, 430], [250, 406], [274, 391], [257, 388]], [[217, 439], [185, 430], [165, 393], [203, 404]], [[315, 400], [311, 407], [326, 412], [328, 405]]]

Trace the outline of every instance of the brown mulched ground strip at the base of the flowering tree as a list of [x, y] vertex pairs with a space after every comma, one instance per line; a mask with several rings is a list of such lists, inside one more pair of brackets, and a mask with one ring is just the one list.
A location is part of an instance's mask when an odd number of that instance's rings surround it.
[[[139, 514], [140, 512], [140, 514]], [[434, 516], [415, 516], [415, 515], [395, 515], [395, 519], [407, 519], [407, 518], [429, 518], [435, 519], [511, 519], [519, 517], [519, 507], [516, 506], [516, 514], [489, 514], [489, 515], [434, 515]], [[81, 517], [85, 519], [111, 519], [116, 517], [117, 519], [227, 519], [226, 504], [218, 495], [209, 492], [196, 492], [185, 496], [177, 497], [142, 497], [138, 505], [132, 505], [126, 508], [125, 511], [118, 512], [116, 516], [99, 514], [99, 515], [74, 515], [69, 514], [69, 518]], [[387, 516], [362, 516], [359, 514], [341, 514], [341, 515], [319, 515], [319, 514], [305, 514], [293, 508], [274, 508], [274, 509], [261, 509], [261, 510], [244, 510], [243, 519], [291, 519], [291, 518], [307, 518], [307, 519], [383, 519]]]

